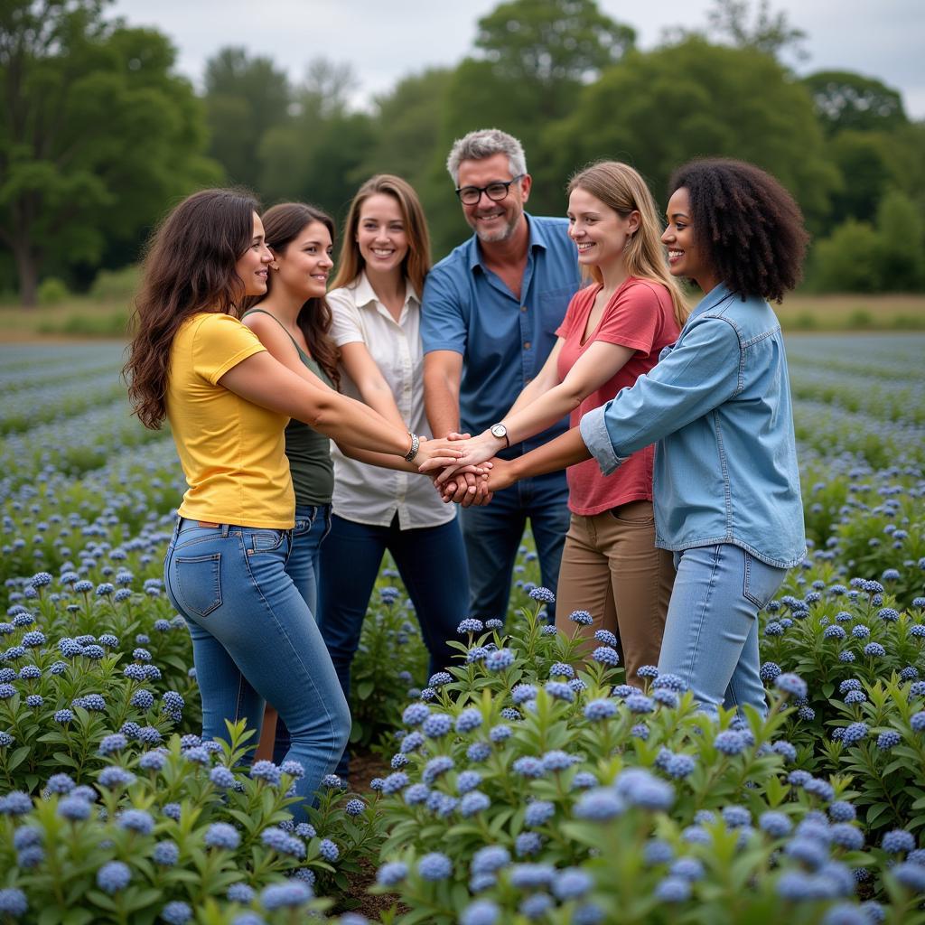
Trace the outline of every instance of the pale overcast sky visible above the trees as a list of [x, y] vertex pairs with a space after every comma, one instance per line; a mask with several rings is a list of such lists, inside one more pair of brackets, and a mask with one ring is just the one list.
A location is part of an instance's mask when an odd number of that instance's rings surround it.
[[[179, 68], [200, 86], [206, 60], [225, 45], [273, 58], [292, 80], [315, 56], [349, 61], [360, 80], [357, 103], [388, 91], [402, 76], [456, 64], [472, 49], [475, 22], [498, 0], [116, 0], [130, 25], [153, 25], [179, 48]], [[710, 0], [630, 4], [598, 0], [633, 26], [650, 48], [666, 27], [706, 23]], [[756, 4], [757, 6], [757, 4]], [[925, 118], [923, 0], [771, 0], [808, 33], [800, 73], [855, 70], [903, 93], [910, 117]], [[794, 63], [794, 62], [789, 62]]]

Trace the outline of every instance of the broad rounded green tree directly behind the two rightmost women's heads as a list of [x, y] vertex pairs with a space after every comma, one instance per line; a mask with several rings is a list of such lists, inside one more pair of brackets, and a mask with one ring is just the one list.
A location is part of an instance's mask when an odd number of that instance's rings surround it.
[[771, 171], [817, 225], [838, 183], [806, 88], [769, 55], [697, 37], [626, 56], [549, 128], [545, 148], [550, 181], [616, 158], [640, 170], [662, 204], [686, 160], [741, 158]]

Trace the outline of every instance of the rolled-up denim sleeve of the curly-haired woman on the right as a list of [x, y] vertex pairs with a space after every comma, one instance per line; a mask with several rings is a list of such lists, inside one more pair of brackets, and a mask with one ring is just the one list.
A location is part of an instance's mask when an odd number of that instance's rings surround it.
[[740, 388], [742, 350], [735, 328], [704, 318], [631, 388], [581, 420], [588, 450], [609, 475], [636, 450], [709, 413]]

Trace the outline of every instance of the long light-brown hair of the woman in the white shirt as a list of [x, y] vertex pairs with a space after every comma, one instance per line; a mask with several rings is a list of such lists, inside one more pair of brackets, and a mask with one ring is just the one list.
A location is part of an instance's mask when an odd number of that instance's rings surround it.
[[350, 286], [363, 272], [366, 262], [356, 242], [357, 228], [360, 226], [360, 211], [363, 203], [370, 196], [375, 196], [380, 192], [393, 196], [399, 203], [405, 234], [408, 236], [408, 253], [401, 262], [401, 270], [411, 280], [414, 291], [420, 298], [424, 291], [424, 279], [430, 269], [430, 239], [427, 235], [427, 222], [421, 201], [417, 198], [412, 185], [407, 180], [392, 174], [376, 174], [375, 177], [367, 179], [356, 191], [350, 203], [350, 211], [347, 213], [338, 272], [330, 288], [335, 290], [341, 286]]

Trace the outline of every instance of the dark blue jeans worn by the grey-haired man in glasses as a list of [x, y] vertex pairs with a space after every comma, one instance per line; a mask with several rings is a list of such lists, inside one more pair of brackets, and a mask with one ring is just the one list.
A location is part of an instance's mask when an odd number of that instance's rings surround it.
[[[469, 560], [470, 610], [479, 620], [507, 617], [514, 561], [528, 517], [543, 586], [555, 594], [571, 519], [564, 473], [524, 478], [496, 492], [484, 507], [460, 509]], [[554, 620], [555, 607], [547, 610]]]

